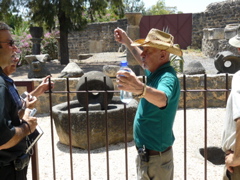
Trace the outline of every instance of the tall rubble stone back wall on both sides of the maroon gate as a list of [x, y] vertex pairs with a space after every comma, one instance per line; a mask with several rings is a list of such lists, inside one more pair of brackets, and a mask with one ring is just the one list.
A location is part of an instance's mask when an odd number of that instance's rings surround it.
[[[219, 1], [211, 3], [201, 13], [192, 14], [191, 48], [202, 49], [203, 29], [224, 28], [239, 23], [240, 1]], [[69, 33], [69, 55], [77, 59], [78, 54], [117, 52], [120, 45], [113, 38], [116, 27], [127, 29], [127, 20], [89, 24], [85, 30]]]

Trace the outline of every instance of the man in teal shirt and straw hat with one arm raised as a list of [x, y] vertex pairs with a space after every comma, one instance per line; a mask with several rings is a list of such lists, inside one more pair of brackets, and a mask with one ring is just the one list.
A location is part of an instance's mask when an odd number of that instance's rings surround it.
[[118, 88], [141, 98], [133, 129], [138, 150], [138, 180], [172, 180], [172, 128], [180, 85], [169, 57], [170, 53], [182, 56], [182, 51], [173, 44], [172, 35], [158, 29], [151, 29], [146, 39], [134, 42], [120, 28], [115, 29], [114, 36], [131, 51], [147, 76], [144, 84], [131, 70], [117, 73]]

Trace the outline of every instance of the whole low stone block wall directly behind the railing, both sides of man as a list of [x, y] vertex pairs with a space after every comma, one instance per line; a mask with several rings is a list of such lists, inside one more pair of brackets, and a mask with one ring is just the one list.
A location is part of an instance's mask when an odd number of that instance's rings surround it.
[[[34, 87], [41, 83], [41, 79], [31, 79], [34, 81]], [[76, 85], [79, 78], [69, 79], [69, 100], [76, 100]], [[179, 75], [179, 80], [181, 83], [181, 89], [184, 89], [183, 76]], [[231, 88], [232, 75], [228, 77], [228, 88]], [[21, 80], [18, 80], [21, 81]], [[38, 113], [49, 113], [50, 112], [50, 102], [52, 106], [59, 103], [66, 102], [68, 100], [67, 94], [67, 81], [65, 78], [53, 78], [54, 89], [51, 96], [49, 94], [44, 94], [38, 98], [36, 108]], [[115, 79], [113, 79], [114, 84]], [[218, 75], [208, 75], [207, 76], [207, 89], [225, 89], [226, 88], [226, 76], [225, 74]], [[199, 90], [204, 90], [204, 75], [187, 75], [185, 81], [186, 90], [194, 90], [192, 92], [186, 92], [186, 107], [187, 108], [203, 108], [204, 107], [204, 92], [198, 92]], [[116, 86], [114, 86], [116, 87]], [[26, 89], [23, 87], [18, 87], [20, 94]], [[115, 96], [119, 96], [119, 91], [117, 89]], [[72, 92], [71, 92], [72, 91]], [[51, 97], [51, 99], [50, 99]], [[183, 108], [183, 92], [181, 93], [179, 108]], [[139, 99], [136, 99], [139, 100]], [[208, 107], [225, 107], [226, 106], [226, 92], [207, 92], [207, 106]]]

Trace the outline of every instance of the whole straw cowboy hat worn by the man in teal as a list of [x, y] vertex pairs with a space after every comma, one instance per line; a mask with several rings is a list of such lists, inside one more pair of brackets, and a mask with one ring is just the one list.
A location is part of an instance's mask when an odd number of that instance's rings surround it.
[[174, 37], [171, 34], [152, 28], [146, 39], [138, 39], [131, 46], [153, 47], [182, 56], [181, 49], [176, 44], [173, 44], [173, 40]]

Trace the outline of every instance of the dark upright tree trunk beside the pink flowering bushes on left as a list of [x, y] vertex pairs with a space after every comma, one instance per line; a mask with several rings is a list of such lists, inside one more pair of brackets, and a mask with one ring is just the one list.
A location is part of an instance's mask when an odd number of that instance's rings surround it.
[[69, 51], [68, 51], [68, 18], [66, 18], [65, 13], [61, 13], [59, 17], [60, 24], [60, 56], [61, 64], [69, 63]]

